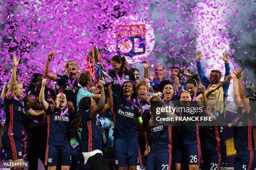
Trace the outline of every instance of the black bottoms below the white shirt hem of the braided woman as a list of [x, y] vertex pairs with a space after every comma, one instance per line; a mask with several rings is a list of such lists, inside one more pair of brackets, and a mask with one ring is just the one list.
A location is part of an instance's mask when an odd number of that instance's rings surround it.
[[87, 160], [87, 163], [89, 163], [92, 170], [105, 170], [105, 163], [101, 153], [96, 153], [95, 155], [91, 156]]

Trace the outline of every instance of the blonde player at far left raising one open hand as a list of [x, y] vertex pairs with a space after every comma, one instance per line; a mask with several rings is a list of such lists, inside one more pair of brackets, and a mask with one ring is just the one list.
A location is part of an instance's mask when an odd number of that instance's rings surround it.
[[[20, 59], [16, 59], [13, 55], [13, 72], [10, 79], [10, 85], [5, 85], [2, 91], [4, 99], [4, 111], [6, 121], [2, 131], [1, 141], [3, 148], [10, 163], [23, 162], [22, 152], [22, 123], [23, 117], [26, 114], [24, 110], [23, 85], [17, 82], [16, 69]], [[11, 170], [21, 170], [23, 168], [11, 167]]]

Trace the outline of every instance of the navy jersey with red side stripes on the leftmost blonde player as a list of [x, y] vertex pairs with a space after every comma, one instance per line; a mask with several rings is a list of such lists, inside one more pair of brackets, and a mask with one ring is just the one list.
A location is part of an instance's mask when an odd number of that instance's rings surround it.
[[4, 98], [4, 111], [5, 111], [5, 126], [2, 132], [2, 136], [16, 136], [22, 135], [23, 118], [26, 115], [23, 105], [14, 99], [14, 97], [8, 99]]

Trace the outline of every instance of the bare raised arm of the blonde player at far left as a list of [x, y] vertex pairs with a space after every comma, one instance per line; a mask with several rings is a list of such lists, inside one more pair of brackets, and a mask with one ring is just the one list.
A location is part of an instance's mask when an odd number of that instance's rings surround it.
[[15, 85], [17, 82], [17, 75], [16, 75], [16, 70], [17, 70], [17, 65], [19, 64], [20, 59], [16, 59], [16, 54], [13, 55], [13, 72], [11, 75], [11, 79], [10, 79], [10, 87], [5, 95], [5, 97], [7, 97], [8, 99], [13, 97], [13, 92], [15, 89]]

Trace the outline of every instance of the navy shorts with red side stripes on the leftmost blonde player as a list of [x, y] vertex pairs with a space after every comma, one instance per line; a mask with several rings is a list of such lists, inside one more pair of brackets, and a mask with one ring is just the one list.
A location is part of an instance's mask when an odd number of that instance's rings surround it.
[[1, 141], [7, 155], [7, 159], [23, 159], [22, 143], [20, 137], [2, 136]]

